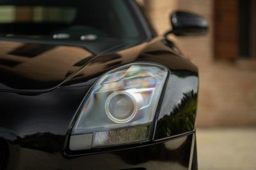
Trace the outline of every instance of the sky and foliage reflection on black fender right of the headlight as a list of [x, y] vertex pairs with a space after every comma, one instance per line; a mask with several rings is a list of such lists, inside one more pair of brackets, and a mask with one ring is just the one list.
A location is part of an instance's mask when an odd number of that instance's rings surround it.
[[198, 94], [198, 76], [172, 71], [164, 92], [154, 140], [193, 131]]

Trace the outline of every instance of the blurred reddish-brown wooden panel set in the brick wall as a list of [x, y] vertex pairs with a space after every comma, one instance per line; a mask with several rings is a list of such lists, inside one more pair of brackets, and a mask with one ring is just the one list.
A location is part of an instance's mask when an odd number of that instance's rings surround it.
[[239, 55], [238, 4], [236, 0], [214, 1], [214, 57], [236, 60]]

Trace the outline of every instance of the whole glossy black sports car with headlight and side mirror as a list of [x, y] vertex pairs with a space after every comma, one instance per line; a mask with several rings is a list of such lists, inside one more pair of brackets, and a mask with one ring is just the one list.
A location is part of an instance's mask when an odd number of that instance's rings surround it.
[[198, 69], [130, 0], [0, 0], [0, 169], [197, 169]]

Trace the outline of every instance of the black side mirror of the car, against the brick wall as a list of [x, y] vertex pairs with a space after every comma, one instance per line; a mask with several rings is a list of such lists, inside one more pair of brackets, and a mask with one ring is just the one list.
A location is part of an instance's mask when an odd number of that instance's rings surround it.
[[172, 31], [168, 34], [176, 36], [203, 35], [208, 31], [208, 22], [204, 17], [186, 11], [175, 11], [170, 15]]

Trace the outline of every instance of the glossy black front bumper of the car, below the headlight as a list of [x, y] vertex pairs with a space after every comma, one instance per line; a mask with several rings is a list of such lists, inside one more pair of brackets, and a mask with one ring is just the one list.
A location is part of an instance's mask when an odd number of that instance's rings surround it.
[[10, 146], [6, 169], [191, 169], [195, 133], [127, 148], [79, 157]]

